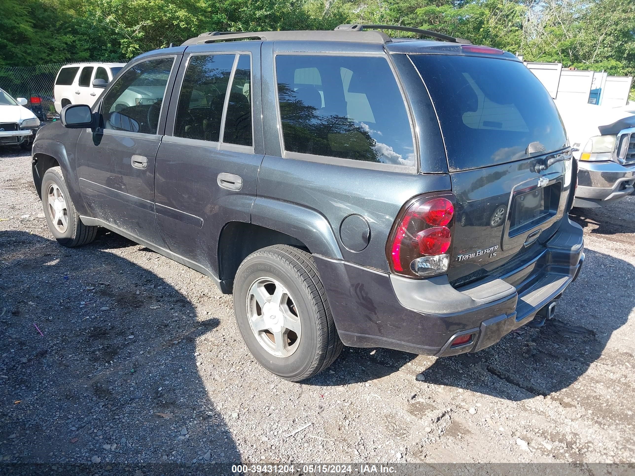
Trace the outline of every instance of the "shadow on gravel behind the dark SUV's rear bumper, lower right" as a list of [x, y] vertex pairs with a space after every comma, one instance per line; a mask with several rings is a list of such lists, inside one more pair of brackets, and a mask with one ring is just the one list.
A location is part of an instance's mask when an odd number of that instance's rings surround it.
[[538, 329], [521, 327], [476, 354], [437, 359], [424, 371], [425, 381], [524, 400], [569, 387], [601, 357], [609, 365], [630, 359], [627, 353], [602, 354], [635, 307], [635, 269], [589, 249], [585, 255], [584, 269], [565, 291], [552, 321]]

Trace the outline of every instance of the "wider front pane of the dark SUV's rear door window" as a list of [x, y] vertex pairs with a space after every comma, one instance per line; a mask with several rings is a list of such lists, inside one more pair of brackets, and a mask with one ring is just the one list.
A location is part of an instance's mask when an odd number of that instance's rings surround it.
[[227, 84], [235, 59], [236, 55], [190, 57], [178, 98], [175, 136], [218, 142]]

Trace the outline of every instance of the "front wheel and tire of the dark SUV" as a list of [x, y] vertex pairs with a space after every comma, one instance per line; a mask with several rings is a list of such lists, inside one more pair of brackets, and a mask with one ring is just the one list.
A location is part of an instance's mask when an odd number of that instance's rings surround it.
[[97, 236], [97, 227], [84, 225], [70, 199], [62, 169], [51, 167], [42, 178], [44, 218], [53, 237], [69, 248], [88, 244]]

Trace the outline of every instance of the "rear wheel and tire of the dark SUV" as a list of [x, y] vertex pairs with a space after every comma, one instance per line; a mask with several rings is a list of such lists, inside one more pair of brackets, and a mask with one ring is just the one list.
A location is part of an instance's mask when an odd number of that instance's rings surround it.
[[320, 373], [344, 347], [312, 256], [293, 246], [245, 258], [234, 279], [234, 314], [251, 354], [286, 380]]

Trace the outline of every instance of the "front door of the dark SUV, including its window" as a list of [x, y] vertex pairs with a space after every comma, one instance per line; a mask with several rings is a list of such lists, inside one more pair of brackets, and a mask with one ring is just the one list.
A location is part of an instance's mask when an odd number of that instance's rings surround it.
[[157, 246], [164, 242], [154, 214], [154, 161], [178, 58], [128, 67], [96, 107], [102, 128], [84, 129], [77, 144], [79, 188], [93, 217]]

